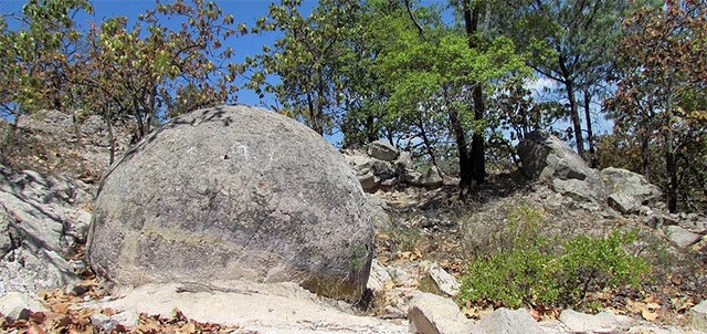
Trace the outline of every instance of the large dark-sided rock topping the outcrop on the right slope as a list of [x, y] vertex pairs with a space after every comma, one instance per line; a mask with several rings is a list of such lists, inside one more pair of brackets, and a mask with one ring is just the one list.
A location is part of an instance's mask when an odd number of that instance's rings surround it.
[[544, 131], [529, 133], [518, 144], [518, 155], [523, 171], [532, 180], [584, 180], [598, 177], [597, 170], [590, 168], [564, 142]]

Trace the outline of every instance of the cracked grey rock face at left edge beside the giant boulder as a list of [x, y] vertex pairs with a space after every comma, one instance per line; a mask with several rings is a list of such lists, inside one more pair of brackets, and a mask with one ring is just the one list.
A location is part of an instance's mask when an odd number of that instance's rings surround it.
[[85, 185], [0, 166], [0, 295], [30, 295], [77, 281], [66, 261], [86, 240]]

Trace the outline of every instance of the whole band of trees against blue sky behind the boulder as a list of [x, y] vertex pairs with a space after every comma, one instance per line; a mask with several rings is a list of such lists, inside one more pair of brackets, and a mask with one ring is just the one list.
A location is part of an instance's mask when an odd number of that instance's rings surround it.
[[[17, 123], [82, 111], [109, 129], [133, 124], [139, 139], [245, 88], [342, 148], [388, 140], [465, 190], [516, 168], [514, 145], [545, 128], [592, 165], [644, 174], [671, 210], [707, 207], [707, 165], [695, 163], [707, 152], [704, 3], [302, 2], [236, 24], [214, 2], [160, 1], [81, 28], [73, 18], [91, 2], [30, 0], [0, 17], [1, 113]], [[246, 33], [277, 38], [239, 63]], [[536, 79], [555, 83], [549, 97], [530, 88]], [[598, 135], [601, 122], [613, 131]]]

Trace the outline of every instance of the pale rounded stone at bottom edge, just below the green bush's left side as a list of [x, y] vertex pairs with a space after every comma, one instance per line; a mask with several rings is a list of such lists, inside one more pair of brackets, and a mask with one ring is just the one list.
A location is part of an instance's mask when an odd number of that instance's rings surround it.
[[526, 310], [500, 307], [482, 317], [476, 325], [486, 334], [544, 334], [540, 325]]

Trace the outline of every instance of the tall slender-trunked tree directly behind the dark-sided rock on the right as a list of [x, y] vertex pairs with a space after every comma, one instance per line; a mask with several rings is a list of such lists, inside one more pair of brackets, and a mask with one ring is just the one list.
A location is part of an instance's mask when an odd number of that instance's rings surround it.
[[[591, 107], [598, 85], [606, 84], [611, 51], [627, 6], [620, 0], [536, 0], [518, 2], [505, 28], [518, 46], [527, 52], [528, 65], [558, 82], [567, 100], [577, 152], [592, 160]], [[589, 153], [580, 108], [584, 108]]]

